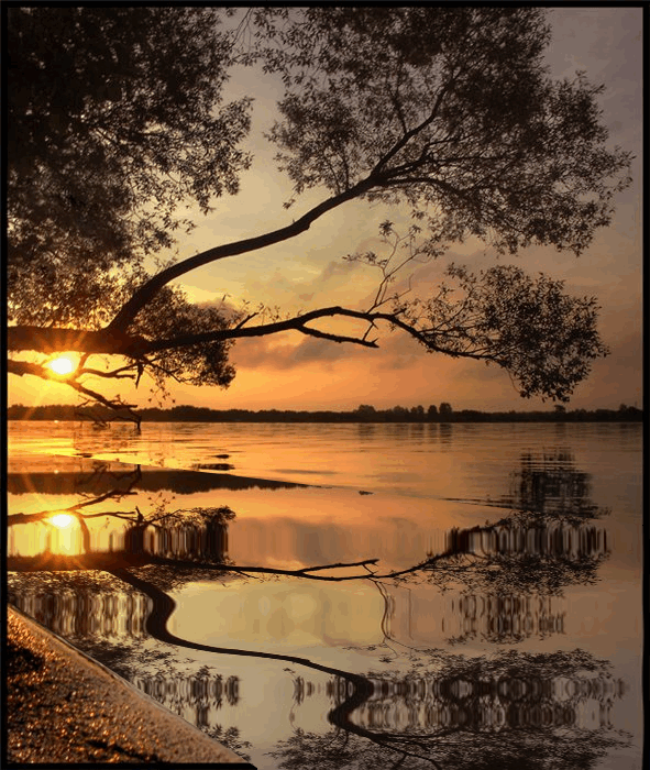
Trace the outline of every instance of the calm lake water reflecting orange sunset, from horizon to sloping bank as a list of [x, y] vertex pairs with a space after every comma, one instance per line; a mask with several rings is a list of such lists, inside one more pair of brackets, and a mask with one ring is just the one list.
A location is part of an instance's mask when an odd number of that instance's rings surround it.
[[13, 603], [260, 770], [641, 769], [640, 426], [9, 442]]

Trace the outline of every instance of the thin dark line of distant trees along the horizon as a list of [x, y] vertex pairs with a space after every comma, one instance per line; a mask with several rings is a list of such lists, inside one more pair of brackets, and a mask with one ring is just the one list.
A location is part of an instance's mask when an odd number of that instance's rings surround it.
[[[618, 409], [573, 409], [555, 406], [550, 411], [454, 411], [450, 404], [375, 409], [362, 404], [352, 411], [291, 411], [285, 409], [209, 409], [208, 407], [174, 406], [169, 409], [141, 410], [146, 422], [638, 422], [642, 409], [621, 404]], [[102, 406], [54, 404], [41, 406], [10, 406], [9, 420], [92, 420], [109, 422], [114, 410]], [[118, 416], [119, 417], [119, 416]]]

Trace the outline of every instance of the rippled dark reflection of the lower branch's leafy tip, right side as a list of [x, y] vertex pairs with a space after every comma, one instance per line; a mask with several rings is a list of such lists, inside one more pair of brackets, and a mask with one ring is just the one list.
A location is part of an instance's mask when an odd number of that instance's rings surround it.
[[577, 470], [566, 449], [521, 454], [508, 495], [480, 505], [508, 507], [494, 524], [448, 535], [444, 563], [427, 579], [452, 587], [460, 645], [474, 639], [517, 644], [564, 632], [557, 598], [571, 585], [593, 585], [609, 557], [607, 531], [593, 519], [609, 512], [591, 499], [590, 474]]

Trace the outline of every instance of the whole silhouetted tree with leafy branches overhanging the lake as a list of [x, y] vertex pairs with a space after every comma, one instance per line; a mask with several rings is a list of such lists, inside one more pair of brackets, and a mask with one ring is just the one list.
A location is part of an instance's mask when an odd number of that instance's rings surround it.
[[[385, 324], [428, 352], [504, 367], [522, 396], [568, 400], [606, 353], [595, 299], [507, 265], [480, 275], [451, 265], [429, 298], [392, 293], [399, 271], [471, 235], [498, 253], [542, 244], [580, 254], [609, 223], [630, 154], [606, 145], [601, 87], [547, 74], [544, 11], [265, 8], [224, 31], [221, 14], [10, 9], [8, 346], [81, 360], [69, 374], [52, 372], [43, 355], [12, 359], [9, 371], [119, 407], [88, 377], [139, 383], [147, 373], [161, 386], [168, 377], [227, 386], [236, 339], [295, 330], [376, 348]], [[269, 139], [295, 196], [318, 188], [326, 197], [290, 224], [147, 272], [145, 255], [188, 226], [177, 208], [194, 199], [207, 211], [236, 193], [250, 163], [238, 148], [250, 100], [221, 105], [235, 63], [282, 77]], [[383, 223], [387, 256], [349, 255], [379, 271], [364, 309], [283, 318], [198, 307], [170, 285], [291, 239], [354, 199], [400, 206], [415, 221], [401, 234]], [[315, 326], [329, 318], [361, 321], [365, 332]], [[100, 371], [88, 364], [96, 354], [122, 361]]]

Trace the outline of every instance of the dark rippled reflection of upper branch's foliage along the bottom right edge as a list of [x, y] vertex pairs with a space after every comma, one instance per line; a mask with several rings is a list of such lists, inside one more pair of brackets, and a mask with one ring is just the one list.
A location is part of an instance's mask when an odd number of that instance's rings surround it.
[[[623, 681], [581, 650], [477, 658], [431, 650], [406, 675], [367, 679], [373, 692], [353, 724], [296, 730], [272, 752], [278, 770], [590, 770], [629, 743], [609, 721]], [[296, 700], [306, 690], [300, 682]], [[349, 700], [345, 680], [329, 691], [337, 703]]]

